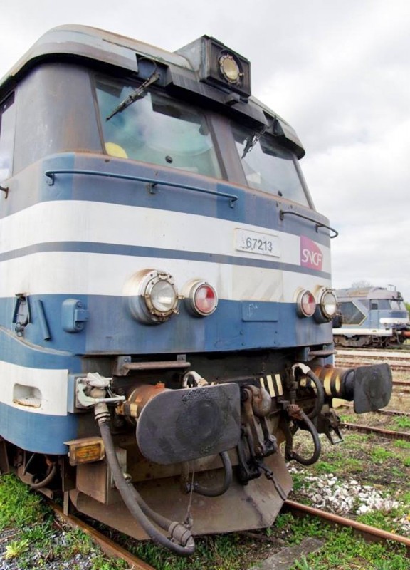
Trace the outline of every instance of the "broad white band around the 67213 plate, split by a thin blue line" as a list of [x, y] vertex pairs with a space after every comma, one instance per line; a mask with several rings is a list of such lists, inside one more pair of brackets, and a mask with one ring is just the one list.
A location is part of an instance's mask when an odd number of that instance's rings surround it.
[[[33, 231], [35, 228], [35, 231]], [[276, 237], [280, 257], [235, 249], [236, 229]], [[295, 289], [330, 286], [322, 276], [300, 267], [300, 237], [285, 232], [198, 214], [184, 214], [102, 202], [42, 202], [0, 221], [0, 254], [36, 244], [84, 242], [157, 249], [158, 257], [94, 252], [36, 252], [1, 262], [0, 296], [28, 294], [122, 295], [124, 284], [141, 269], [168, 271], [178, 288], [194, 278], [216, 286], [220, 299], [294, 302]], [[160, 250], [175, 251], [175, 258]], [[320, 244], [322, 271], [330, 274], [330, 248]], [[278, 261], [295, 271], [218, 261], [177, 259], [177, 252]], [[253, 262], [254, 263], [254, 262]], [[302, 271], [302, 273], [301, 273]], [[107, 279], [109, 274], [110, 279]]]

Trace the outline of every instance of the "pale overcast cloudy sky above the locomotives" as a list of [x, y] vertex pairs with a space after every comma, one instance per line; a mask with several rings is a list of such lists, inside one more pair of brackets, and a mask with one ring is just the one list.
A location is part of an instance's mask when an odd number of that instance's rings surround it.
[[84, 24], [174, 51], [207, 34], [251, 61], [252, 93], [290, 123], [332, 284], [410, 302], [408, 0], [0, 0], [0, 77], [48, 29]]

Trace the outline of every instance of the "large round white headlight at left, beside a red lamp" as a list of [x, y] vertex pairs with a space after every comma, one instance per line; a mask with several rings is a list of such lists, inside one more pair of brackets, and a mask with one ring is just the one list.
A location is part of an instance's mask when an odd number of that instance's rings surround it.
[[132, 316], [142, 323], [164, 323], [178, 313], [178, 291], [166, 271], [139, 271], [127, 281], [125, 296]]

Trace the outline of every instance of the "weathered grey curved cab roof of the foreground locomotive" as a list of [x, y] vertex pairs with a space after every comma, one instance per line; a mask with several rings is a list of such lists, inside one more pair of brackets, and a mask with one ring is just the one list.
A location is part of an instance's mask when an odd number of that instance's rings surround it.
[[[221, 45], [223, 46], [223, 44]], [[206, 95], [220, 105], [225, 105], [225, 108], [232, 113], [247, 115], [248, 118], [256, 120], [261, 125], [267, 124], [266, 115], [277, 119], [283, 138], [293, 148], [298, 158], [305, 155], [298, 135], [285, 120], [253, 97], [249, 97], [248, 103], [241, 102], [238, 105], [233, 105], [234, 109], [231, 108], [231, 103], [224, 101], [226, 90], [221, 91], [215, 86], [204, 85], [198, 81], [197, 70], [194, 68], [191, 58], [183, 55], [183, 51], [184, 48], [175, 52], [165, 51], [148, 43], [90, 26], [77, 24], [58, 26], [44, 33], [17, 61], [9, 73], [1, 78], [0, 99], [14, 88], [28, 71], [44, 61], [82, 60], [90, 65], [115, 66], [135, 74], [137, 72], [136, 55], [146, 56], [169, 68], [170, 83], [175, 80], [179, 87], [183, 86], [193, 92], [194, 86], [196, 86], [196, 95], [198, 93]], [[194, 82], [191, 81], [192, 74], [196, 78]], [[199, 83], [201, 84], [199, 85]]]

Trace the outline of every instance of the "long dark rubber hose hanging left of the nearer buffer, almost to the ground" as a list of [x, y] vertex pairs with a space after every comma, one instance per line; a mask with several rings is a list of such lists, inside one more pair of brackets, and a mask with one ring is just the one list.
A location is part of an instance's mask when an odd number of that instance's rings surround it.
[[[178, 522], [169, 521], [167, 531], [170, 532], [173, 539], [179, 541], [180, 544], [177, 544], [177, 542], [173, 542], [171, 539], [164, 537], [164, 534], [159, 532], [147, 518], [147, 514], [144, 514], [144, 511], [139, 504], [139, 502], [143, 502], [143, 499], [137, 493], [137, 490], [133, 487], [132, 483], [127, 481], [122, 473], [122, 469], [117, 459], [117, 454], [115, 453], [114, 443], [112, 442], [109, 423], [102, 418], [98, 420], [98, 425], [100, 427], [102, 441], [105, 446], [107, 462], [110, 465], [112, 476], [114, 477], [115, 486], [120, 492], [122, 500], [127, 505], [127, 508], [130, 510], [132, 517], [137, 519], [148, 536], [158, 544], [165, 546], [165, 548], [172, 550], [179, 556], [190, 556], [193, 554], [195, 550], [195, 542], [189, 529], [186, 529], [184, 525], [179, 524]], [[140, 497], [139, 500], [137, 500], [137, 496]], [[144, 505], [149, 509], [145, 503]], [[149, 509], [149, 511], [152, 512], [151, 509]], [[159, 519], [162, 519], [162, 522], [167, 520], [164, 517], [161, 517], [161, 515], [158, 515], [158, 517]]]

